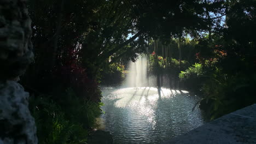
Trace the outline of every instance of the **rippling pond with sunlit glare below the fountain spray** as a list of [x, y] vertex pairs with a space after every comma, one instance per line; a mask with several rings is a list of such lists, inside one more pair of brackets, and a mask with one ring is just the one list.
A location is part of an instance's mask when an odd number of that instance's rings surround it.
[[114, 143], [161, 143], [204, 123], [199, 97], [154, 87], [102, 87], [101, 119]]

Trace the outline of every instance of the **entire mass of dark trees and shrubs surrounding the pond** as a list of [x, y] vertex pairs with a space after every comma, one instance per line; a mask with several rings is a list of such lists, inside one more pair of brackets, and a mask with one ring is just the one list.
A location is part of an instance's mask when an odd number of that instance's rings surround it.
[[[121, 81], [142, 53], [158, 87], [166, 76], [174, 88], [199, 93], [209, 119], [255, 103], [255, 7], [254, 0], [28, 1], [35, 56], [21, 83], [34, 95], [39, 142], [86, 141], [101, 113], [99, 85]], [[72, 132], [56, 133], [58, 123]]]

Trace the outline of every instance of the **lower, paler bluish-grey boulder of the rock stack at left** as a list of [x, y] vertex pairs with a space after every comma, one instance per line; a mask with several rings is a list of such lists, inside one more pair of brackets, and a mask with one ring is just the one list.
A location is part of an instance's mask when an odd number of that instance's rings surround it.
[[16, 81], [0, 82], [0, 144], [36, 144], [29, 94]]

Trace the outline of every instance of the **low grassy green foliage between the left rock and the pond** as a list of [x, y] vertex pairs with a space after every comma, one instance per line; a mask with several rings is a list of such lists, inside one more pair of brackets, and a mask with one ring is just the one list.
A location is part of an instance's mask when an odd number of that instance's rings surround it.
[[85, 143], [89, 130], [95, 126], [102, 105], [79, 99], [72, 89], [61, 95], [56, 103], [45, 96], [30, 99], [30, 109], [36, 120], [39, 143]]

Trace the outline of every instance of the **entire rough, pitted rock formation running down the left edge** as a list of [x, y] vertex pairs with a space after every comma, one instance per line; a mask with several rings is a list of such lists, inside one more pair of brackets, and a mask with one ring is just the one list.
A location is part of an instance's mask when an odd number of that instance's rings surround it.
[[37, 143], [29, 94], [16, 81], [33, 61], [27, 0], [0, 0], [0, 144]]

